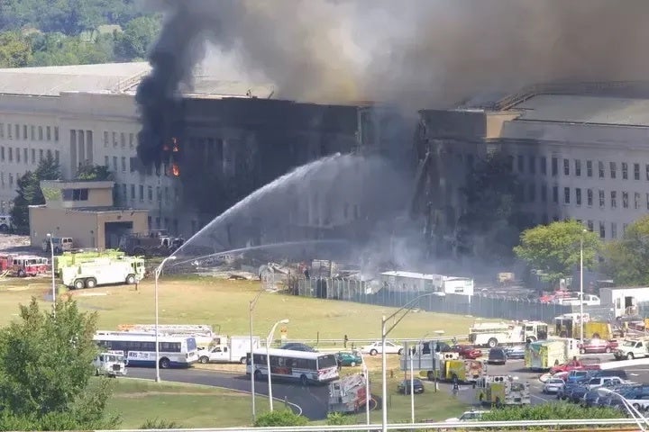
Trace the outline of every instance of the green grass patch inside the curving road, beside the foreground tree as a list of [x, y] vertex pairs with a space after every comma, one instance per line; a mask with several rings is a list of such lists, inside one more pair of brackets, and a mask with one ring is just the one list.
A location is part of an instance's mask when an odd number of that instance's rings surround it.
[[[249, 394], [202, 385], [153, 383], [119, 378], [108, 412], [118, 413], [119, 428], [140, 428], [147, 420], [173, 421], [181, 428], [229, 428], [251, 424]], [[257, 398], [259, 407], [268, 400]]]

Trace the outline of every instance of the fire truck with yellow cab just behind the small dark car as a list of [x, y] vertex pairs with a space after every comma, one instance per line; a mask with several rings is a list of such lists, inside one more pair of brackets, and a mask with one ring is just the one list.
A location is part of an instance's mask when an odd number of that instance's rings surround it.
[[419, 371], [420, 376], [425, 376], [430, 381], [435, 379], [441, 381], [452, 381], [471, 383], [475, 382], [485, 372], [484, 363], [480, 360], [468, 360], [460, 358], [459, 353], [445, 352], [433, 354], [422, 354], [420, 349], [405, 350], [401, 356], [401, 370], [411, 369], [410, 360], [412, 356], [412, 370]]

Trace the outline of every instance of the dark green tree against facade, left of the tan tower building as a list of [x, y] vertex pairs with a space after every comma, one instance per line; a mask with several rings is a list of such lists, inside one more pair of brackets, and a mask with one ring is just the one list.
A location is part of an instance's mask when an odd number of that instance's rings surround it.
[[16, 180], [18, 189], [14, 198], [14, 208], [11, 211], [14, 225], [18, 229], [29, 229], [29, 206], [45, 203], [41, 191], [41, 180], [57, 180], [60, 176], [59, 162], [51, 153], [41, 159], [36, 171], [27, 171]]

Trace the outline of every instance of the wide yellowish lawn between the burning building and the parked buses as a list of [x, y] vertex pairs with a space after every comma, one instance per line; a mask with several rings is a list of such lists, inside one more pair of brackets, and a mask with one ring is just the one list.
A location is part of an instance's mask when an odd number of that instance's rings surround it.
[[[229, 281], [210, 277], [161, 279], [160, 324], [210, 324], [225, 335], [249, 333], [248, 305], [261, 289], [256, 281]], [[41, 280], [7, 279], [0, 284], [0, 325], [17, 315], [17, 305], [35, 295], [44, 299], [50, 285]], [[116, 286], [69, 292], [79, 306], [98, 311], [99, 327], [115, 329], [119, 324], [154, 322], [154, 285]], [[288, 319], [289, 339], [379, 338], [381, 315], [393, 308], [353, 302], [328, 301], [280, 293], [262, 293], [253, 313], [253, 332], [265, 337], [277, 320]], [[422, 338], [444, 330], [446, 336], [465, 335], [470, 317], [433, 312], [413, 312], [390, 334], [391, 338]], [[276, 333], [279, 338], [279, 331]]]

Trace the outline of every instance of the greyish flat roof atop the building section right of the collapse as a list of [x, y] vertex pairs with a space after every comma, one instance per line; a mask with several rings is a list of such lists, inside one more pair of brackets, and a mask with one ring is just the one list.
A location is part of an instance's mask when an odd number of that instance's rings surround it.
[[512, 110], [526, 121], [649, 126], [649, 99], [602, 95], [538, 94]]

